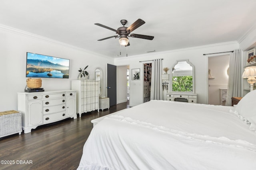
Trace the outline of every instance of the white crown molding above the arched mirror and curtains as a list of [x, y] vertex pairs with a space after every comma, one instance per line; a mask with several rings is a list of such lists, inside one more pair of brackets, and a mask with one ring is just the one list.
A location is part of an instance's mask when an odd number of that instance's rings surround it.
[[218, 47], [218, 46], [232, 45], [232, 44], [238, 44], [238, 42], [237, 41], [229, 41], [229, 42], [225, 42], [225, 43], [216, 43], [216, 44], [210, 44], [210, 45], [202, 45], [202, 46], [189, 47], [189, 48], [184, 48], [184, 49], [176, 49], [176, 50], [170, 50], [170, 51], [161, 51], [161, 52], [147, 53], [147, 54], [142, 54], [142, 55], [133, 55], [133, 56], [129, 56], [129, 57], [119, 57], [119, 58], [115, 58], [115, 60], [128, 59], [128, 58], [134, 58], [134, 57], [143, 57], [143, 56], [149, 56], [149, 55], [158, 55], [158, 54], [165, 54], [165, 53], [175, 53], [175, 52], [179, 52], [179, 51], [189, 51], [189, 50], [195, 50], [195, 49], [204, 49], [204, 48], [209, 48], [209, 47]]

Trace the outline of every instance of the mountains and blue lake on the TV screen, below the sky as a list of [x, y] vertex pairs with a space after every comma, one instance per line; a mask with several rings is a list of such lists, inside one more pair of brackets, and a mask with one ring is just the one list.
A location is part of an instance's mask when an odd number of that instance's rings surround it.
[[27, 59], [26, 77], [69, 78], [69, 66], [48, 60]]

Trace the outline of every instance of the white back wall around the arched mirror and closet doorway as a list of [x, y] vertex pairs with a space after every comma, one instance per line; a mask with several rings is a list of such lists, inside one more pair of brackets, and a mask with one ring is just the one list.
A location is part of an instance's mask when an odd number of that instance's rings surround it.
[[[180, 49], [175, 51], [166, 51], [162, 53], [149, 53], [148, 55], [122, 57], [115, 59], [114, 64], [130, 64], [130, 70], [133, 68], [140, 68], [142, 70], [142, 63], [140, 63], [140, 61], [148, 61], [152, 59], [162, 58], [164, 59], [162, 68], [172, 68], [172, 66], [176, 63], [176, 60], [188, 59], [195, 66], [195, 93], [198, 94], [198, 103], [206, 104], [208, 98], [208, 84], [206, 81], [208, 78], [208, 63], [207, 57], [203, 54], [232, 51], [238, 48], [239, 44], [237, 42], [220, 43], [215, 45], [194, 47], [190, 49]], [[170, 70], [168, 71], [168, 74], [170, 74]], [[141, 74], [140, 77], [142, 76], [143, 75]], [[143, 79], [141, 79], [139, 82], [138, 80], [130, 81], [130, 106], [142, 104], [142, 83]]]

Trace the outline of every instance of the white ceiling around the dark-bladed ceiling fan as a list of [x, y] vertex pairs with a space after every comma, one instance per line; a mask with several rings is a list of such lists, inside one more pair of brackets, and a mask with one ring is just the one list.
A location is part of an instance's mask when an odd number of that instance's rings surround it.
[[[113, 29], [146, 23], [121, 47]], [[256, 23], [256, 0], [1, 0], [0, 24], [109, 57], [125, 57], [239, 41]], [[120, 55], [120, 51], [122, 52]], [[154, 53], [154, 52], [152, 52]]]

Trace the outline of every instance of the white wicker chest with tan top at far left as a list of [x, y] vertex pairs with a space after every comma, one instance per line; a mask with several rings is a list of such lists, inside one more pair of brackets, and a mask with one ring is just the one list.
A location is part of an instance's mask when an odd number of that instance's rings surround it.
[[22, 122], [19, 111], [10, 110], [0, 112], [0, 137], [5, 137], [15, 133], [21, 134]]

